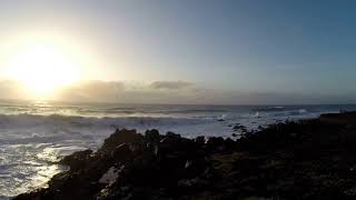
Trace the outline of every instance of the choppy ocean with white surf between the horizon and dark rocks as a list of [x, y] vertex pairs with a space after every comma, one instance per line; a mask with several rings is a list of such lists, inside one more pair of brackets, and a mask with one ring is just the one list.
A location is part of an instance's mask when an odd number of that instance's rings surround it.
[[158, 129], [187, 138], [231, 137], [237, 123], [266, 124], [356, 110], [342, 106], [172, 106], [0, 101], [0, 199], [46, 187], [61, 157], [97, 149], [117, 128]]

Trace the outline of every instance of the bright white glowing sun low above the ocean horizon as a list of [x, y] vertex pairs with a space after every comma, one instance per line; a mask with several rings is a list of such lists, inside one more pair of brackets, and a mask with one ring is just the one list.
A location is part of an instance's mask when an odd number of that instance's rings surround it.
[[36, 96], [48, 96], [79, 80], [78, 66], [53, 47], [32, 46], [16, 53], [8, 76], [20, 81]]

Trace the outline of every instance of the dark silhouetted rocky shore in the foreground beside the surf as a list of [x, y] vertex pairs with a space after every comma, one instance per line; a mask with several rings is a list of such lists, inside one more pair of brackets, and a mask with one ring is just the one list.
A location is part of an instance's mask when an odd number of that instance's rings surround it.
[[286, 121], [237, 140], [117, 130], [16, 200], [356, 199], [356, 112]]

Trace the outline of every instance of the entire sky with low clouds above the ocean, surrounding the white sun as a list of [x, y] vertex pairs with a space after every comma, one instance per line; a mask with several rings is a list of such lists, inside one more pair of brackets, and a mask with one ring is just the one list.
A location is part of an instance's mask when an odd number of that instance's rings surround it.
[[355, 9], [348, 0], [2, 0], [0, 98], [30, 97], [7, 61], [42, 42], [79, 66], [82, 83], [58, 90], [59, 100], [354, 103]]

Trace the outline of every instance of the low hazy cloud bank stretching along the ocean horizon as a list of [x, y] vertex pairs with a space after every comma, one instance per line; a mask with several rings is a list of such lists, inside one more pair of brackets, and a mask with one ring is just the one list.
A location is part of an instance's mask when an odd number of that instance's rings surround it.
[[[33, 99], [31, 91], [16, 81], [0, 81], [1, 99]], [[59, 101], [98, 101], [117, 103], [190, 104], [298, 104], [350, 103], [356, 94], [309, 94], [287, 92], [233, 91], [208, 89], [186, 81], [87, 81], [61, 88], [49, 97]]]

